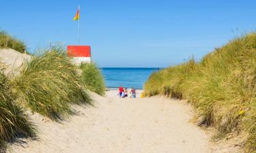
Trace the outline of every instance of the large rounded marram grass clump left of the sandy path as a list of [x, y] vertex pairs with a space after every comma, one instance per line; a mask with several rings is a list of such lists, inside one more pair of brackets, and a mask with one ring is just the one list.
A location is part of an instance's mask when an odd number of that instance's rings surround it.
[[53, 120], [72, 113], [70, 104], [89, 103], [76, 66], [61, 48], [33, 56], [12, 82], [18, 103]]

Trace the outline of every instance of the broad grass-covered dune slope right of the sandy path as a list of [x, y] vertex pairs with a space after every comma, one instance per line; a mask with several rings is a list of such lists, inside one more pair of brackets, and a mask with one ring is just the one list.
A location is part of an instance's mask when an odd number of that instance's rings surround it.
[[256, 33], [233, 39], [199, 62], [153, 73], [145, 95], [187, 99], [203, 116], [201, 124], [220, 134], [248, 133], [244, 150], [256, 152]]

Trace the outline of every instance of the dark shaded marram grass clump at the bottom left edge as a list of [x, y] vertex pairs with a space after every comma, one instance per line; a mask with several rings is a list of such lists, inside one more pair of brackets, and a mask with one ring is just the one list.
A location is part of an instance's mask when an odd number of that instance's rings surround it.
[[23, 109], [14, 103], [8, 80], [0, 73], [0, 152], [5, 152], [6, 142], [17, 136], [35, 137], [35, 129]]

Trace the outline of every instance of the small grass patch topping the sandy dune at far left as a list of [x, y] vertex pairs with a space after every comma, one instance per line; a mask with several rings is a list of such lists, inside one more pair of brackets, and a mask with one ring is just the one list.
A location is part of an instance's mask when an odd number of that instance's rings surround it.
[[4, 31], [0, 31], [0, 48], [12, 48], [20, 53], [25, 53], [26, 45]]

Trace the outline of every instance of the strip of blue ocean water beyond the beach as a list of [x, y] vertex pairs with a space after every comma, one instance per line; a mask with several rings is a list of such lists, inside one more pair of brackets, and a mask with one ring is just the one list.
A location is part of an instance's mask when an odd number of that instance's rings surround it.
[[160, 68], [101, 68], [105, 79], [106, 87], [118, 88], [122, 85], [125, 88], [143, 89], [147, 78]]

